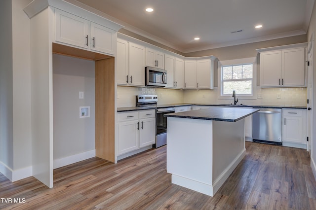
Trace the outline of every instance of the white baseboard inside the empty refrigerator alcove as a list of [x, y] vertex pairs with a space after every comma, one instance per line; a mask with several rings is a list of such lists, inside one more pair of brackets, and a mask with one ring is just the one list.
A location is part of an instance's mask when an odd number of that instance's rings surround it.
[[95, 149], [54, 160], [54, 169], [95, 157]]

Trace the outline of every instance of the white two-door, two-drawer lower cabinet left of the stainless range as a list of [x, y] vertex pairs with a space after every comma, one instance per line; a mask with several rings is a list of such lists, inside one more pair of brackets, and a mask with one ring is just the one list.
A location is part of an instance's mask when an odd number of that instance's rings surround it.
[[156, 142], [155, 110], [118, 113], [118, 155]]

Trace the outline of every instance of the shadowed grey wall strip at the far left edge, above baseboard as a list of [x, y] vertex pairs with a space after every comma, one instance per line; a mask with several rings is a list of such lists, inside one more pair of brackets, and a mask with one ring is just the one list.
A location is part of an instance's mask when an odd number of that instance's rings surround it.
[[[13, 169], [12, 3], [0, 1], [0, 172]], [[3, 165], [4, 164], [4, 165]], [[2, 165], [2, 168], [1, 168]]]

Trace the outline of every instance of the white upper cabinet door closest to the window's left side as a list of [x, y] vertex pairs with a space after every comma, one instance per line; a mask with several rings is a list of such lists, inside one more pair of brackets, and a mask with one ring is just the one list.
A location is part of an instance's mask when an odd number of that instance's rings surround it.
[[200, 60], [197, 61], [197, 89], [211, 88], [211, 61]]

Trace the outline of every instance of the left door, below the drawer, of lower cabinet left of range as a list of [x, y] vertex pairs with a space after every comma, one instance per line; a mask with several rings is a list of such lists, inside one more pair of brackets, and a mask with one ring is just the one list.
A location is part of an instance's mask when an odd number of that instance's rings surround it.
[[139, 148], [139, 121], [118, 123], [118, 155]]

